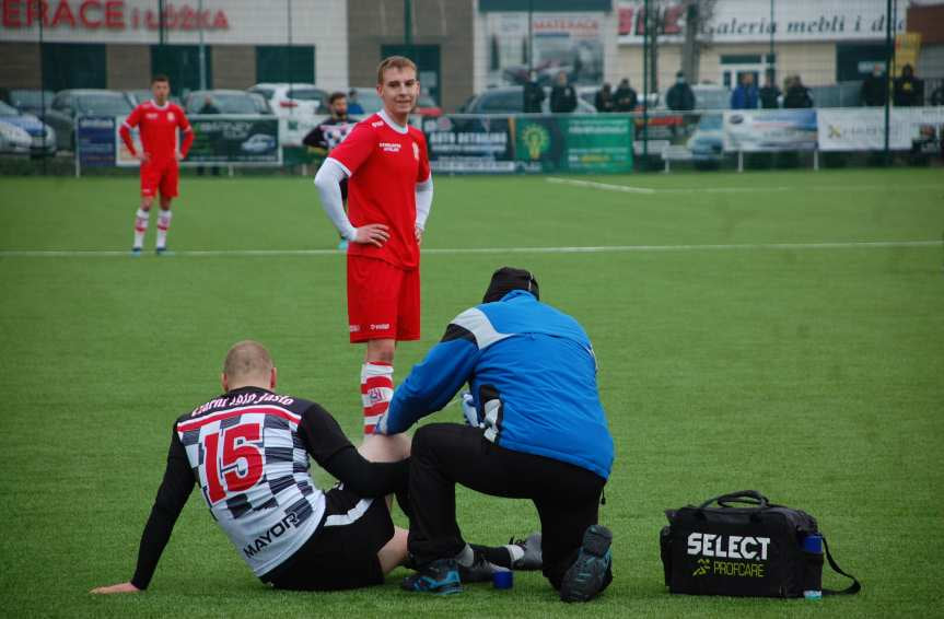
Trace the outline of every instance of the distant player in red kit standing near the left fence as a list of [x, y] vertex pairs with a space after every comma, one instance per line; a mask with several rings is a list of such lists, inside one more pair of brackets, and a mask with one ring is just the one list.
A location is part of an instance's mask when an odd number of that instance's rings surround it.
[[[171, 227], [171, 200], [177, 197], [177, 176], [182, 159], [187, 156], [194, 142], [194, 131], [180, 106], [167, 101], [171, 96], [171, 82], [166, 75], [151, 79], [151, 93], [154, 98], [136, 107], [121, 124], [121, 139], [131, 154], [141, 162], [141, 208], [135, 219], [135, 245], [131, 253], [141, 254], [144, 233], [154, 196], [161, 191], [161, 215], [158, 218], [156, 253], [160, 256], [167, 249], [167, 230]], [[141, 152], [135, 149], [131, 128], [140, 126]], [[177, 148], [177, 129], [184, 133], [183, 143]]]

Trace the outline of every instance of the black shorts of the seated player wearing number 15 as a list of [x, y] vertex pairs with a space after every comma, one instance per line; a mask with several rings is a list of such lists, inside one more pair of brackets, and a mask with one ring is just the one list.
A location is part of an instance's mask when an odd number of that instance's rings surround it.
[[383, 584], [377, 552], [394, 537], [386, 501], [341, 486], [325, 493], [325, 519], [294, 554], [261, 576], [276, 588], [339, 591]]

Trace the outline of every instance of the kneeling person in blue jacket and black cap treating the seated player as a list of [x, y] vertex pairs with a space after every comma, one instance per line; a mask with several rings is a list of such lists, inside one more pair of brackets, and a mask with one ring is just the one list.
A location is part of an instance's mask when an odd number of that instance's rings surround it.
[[611, 534], [597, 517], [614, 448], [590, 338], [575, 319], [539, 301], [529, 271], [503, 267], [482, 303], [456, 316], [396, 389], [376, 432], [404, 432], [465, 383], [467, 423], [428, 424], [413, 436], [409, 551], [420, 569], [404, 586], [441, 592], [461, 568], [488, 559], [466, 545], [456, 524], [461, 483], [531, 499], [545, 576], [566, 602], [593, 598], [613, 580]]

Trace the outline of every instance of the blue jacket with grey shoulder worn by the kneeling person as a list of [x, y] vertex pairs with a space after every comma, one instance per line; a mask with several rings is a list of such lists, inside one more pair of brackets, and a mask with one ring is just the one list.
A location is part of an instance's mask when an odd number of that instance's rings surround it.
[[613, 437], [596, 358], [567, 314], [524, 290], [466, 310], [397, 387], [382, 431], [407, 430], [442, 409], [466, 382], [489, 441], [609, 477]]

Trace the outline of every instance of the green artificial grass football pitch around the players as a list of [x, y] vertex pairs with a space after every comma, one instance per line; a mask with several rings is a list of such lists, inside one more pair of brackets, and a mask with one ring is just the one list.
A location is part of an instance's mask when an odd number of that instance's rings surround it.
[[[145, 594], [90, 596], [131, 576], [171, 424], [218, 394], [232, 342], [265, 342], [281, 390], [322, 402], [357, 437], [362, 350], [347, 342], [343, 258], [329, 252], [337, 236], [308, 178], [185, 177], [171, 230], [177, 255], [150, 254], [152, 221], [149, 254], [137, 259], [43, 254], [126, 252], [135, 178], [2, 178], [0, 614], [940, 614], [944, 174], [574, 178], [654, 191], [436, 177], [423, 338], [400, 347], [396, 375], [478, 302], [502, 265], [535, 271], [544, 300], [585, 326], [617, 445], [601, 509], [615, 535], [616, 581], [601, 599], [564, 606], [533, 573], [517, 574], [510, 592], [474, 585], [424, 597], [398, 589], [401, 569], [372, 589], [272, 592], [196, 494]], [[245, 249], [325, 252], [229, 253]], [[457, 421], [459, 411], [428, 419]], [[817, 516], [862, 593], [820, 603], [666, 593], [663, 510], [745, 488]], [[504, 544], [537, 526], [527, 502], [463, 490], [458, 502], [470, 540]]]

